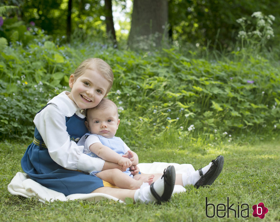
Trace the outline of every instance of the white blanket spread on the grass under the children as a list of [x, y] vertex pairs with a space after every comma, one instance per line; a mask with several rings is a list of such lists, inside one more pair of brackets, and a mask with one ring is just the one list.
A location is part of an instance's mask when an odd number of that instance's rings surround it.
[[[177, 163], [140, 163], [138, 167], [142, 173], [163, 173], [163, 170], [169, 165], [175, 167], [176, 173], [192, 172], [195, 171], [191, 164], [177, 164]], [[25, 173], [18, 172], [8, 185], [8, 191], [12, 195], [20, 195], [23, 197], [36, 197], [39, 201], [67, 201], [67, 200], [89, 200], [98, 202], [100, 199], [112, 199], [115, 201], [123, 202], [115, 197], [103, 193], [89, 193], [89, 194], [71, 194], [65, 196], [63, 193], [48, 189], [41, 184], [29, 179]], [[180, 185], [175, 185], [173, 193], [185, 192], [185, 188]]]

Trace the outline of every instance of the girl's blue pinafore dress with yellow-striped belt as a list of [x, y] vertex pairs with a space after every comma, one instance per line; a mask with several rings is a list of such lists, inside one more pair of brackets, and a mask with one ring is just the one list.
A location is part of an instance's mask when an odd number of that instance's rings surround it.
[[[65, 119], [70, 138], [81, 138], [88, 132], [85, 119], [76, 114], [65, 117]], [[36, 127], [33, 142], [28, 146], [21, 159], [21, 167], [37, 183], [63, 193], [65, 196], [74, 193], [91, 193], [95, 189], [103, 187], [103, 181], [98, 177], [67, 170], [53, 161]]]

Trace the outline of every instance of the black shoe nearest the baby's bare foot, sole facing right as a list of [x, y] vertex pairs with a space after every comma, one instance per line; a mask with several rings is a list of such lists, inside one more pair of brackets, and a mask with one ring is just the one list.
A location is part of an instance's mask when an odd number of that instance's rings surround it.
[[168, 201], [171, 198], [171, 195], [172, 195], [172, 192], [174, 189], [174, 185], [175, 185], [175, 178], [176, 178], [174, 166], [168, 166], [166, 168], [166, 171], [164, 169], [163, 175], [161, 178], [164, 179], [164, 191], [163, 191], [163, 194], [161, 197], [156, 193], [156, 191], [153, 187], [154, 183], [152, 183], [150, 185], [151, 193], [153, 194], [155, 199], [157, 199], [158, 203]]

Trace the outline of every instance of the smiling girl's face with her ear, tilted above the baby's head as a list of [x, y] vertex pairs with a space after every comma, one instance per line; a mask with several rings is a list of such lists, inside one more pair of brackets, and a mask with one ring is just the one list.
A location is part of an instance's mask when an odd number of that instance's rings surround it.
[[97, 71], [86, 69], [76, 80], [73, 74], [70, 76], [71, 92], [68, 97], [81, 109], [93, 108], [107, 96], [109, 85], [106, 78]]

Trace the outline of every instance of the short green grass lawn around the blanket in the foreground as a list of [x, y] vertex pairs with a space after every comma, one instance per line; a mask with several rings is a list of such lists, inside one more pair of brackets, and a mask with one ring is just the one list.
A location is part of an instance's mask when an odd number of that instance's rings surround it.
[[[139, 148], [137, 153], [141, 162], [191, 163], [195, 169], [205, 166], [218, 154], [222, 154], [225, 157], [224, 168], [213, 185], [200, 189], [187, 186], [186, 193], [175, 195], [163, 205], [125, 205], [108, 200], [97, 204], [89, 201], [41, 203], [34, 198], [11, 195], [7, 191], [7, 185], [18, 171], [22, 171], [20, 159], [27, 144], [2, 142], [0, 221], [260, 221], [258, 217], [252, 216], [252, 206], [260, 202], [269, 209], [262, 221], [280, 221], [278, 137], [261, 141], [255, 136], [235, 143], [220, 141], [215, 145], [205, 142], [200, 148], [193, 144], [193, 147], [177, 149], [178, 145], [179, 141], [174, 141], [172, 147]], [[229, 211], [229, 218], [227, 214], [224, 218], [218, 218], [216, 213], [214, 218], [207, 218], [205, 197], [215, 207], [223, 203], [226, 208], [229, 197], [229, 205], [234, 203], [232, 208], [236, 211], [238, 203], [239, 207], [247, 203], [249, 219], [242, 218], [240, 213], [240, 218], [234, 218], [233, 211]], [[219, 212], [219, 215], [223, 213]], [[208, 214], [213, 215], [213, 207], [209, 207]]]

